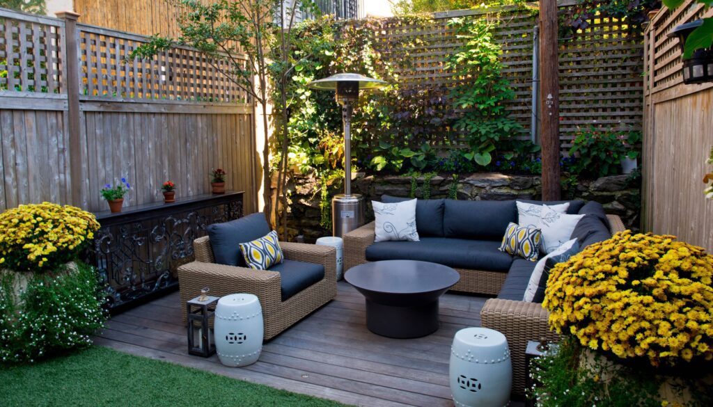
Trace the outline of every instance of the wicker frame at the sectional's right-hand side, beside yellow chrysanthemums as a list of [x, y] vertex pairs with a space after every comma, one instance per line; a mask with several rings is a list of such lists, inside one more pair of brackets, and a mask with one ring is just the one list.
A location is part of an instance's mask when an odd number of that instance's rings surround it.
[[[616, 215], [607, 215], [612, 233], [626, 227]], [[525, 346], [528, 341], [556, 341], [558, 335], [550, 331], [550, 313], [535, 302], [510, 299], [488, 299], [481, 310], [482, 326], [502, 332], [508, 339], [513, 362], [513, 393], [525, 393]]]

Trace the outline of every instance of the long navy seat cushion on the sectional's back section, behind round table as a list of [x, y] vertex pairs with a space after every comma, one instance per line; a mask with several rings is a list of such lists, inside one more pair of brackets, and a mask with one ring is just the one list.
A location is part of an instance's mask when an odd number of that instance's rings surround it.
[[366, 248], [369, 262], [378, 260], [421, 260], [461, 269], [507, 272], [513, 257], [498, 250], [491, 240], [423, 237], [419, 242], [379, 242]]

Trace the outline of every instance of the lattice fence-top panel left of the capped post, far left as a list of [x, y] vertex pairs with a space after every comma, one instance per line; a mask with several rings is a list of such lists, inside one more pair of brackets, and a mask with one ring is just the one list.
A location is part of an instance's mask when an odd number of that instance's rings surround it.
[[62, 93], [63, 24], [0, 10], [0, 91]]

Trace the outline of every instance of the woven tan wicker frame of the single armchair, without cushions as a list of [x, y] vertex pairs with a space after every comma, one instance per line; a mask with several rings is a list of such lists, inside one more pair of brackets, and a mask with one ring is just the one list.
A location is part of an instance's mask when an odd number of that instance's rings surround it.
[[[265, 340], [271, 339], [312, 311], [337, 297], [337, 255], [334, 247], [279, 242], [286, 259], [324, 266], [324, 278], [282, 301], [278, 272], [215, 264], [208, 237], [195, 239], [195, 261], [178, 268], [180, 299], [183, 304], [210, 287], [210, 294], [222, 297], [237, 292], [255, 294], [262, 305]], [[186, 323], [185, 307], [182, 307]]]

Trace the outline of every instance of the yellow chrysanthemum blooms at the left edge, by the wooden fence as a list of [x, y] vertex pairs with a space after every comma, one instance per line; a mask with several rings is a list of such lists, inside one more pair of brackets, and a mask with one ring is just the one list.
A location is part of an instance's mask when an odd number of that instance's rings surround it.
[[52, 270], [73, 260], [99, 223], [90, 212], [50, 202], [20, 205], [0, 214], [0, 267]]

